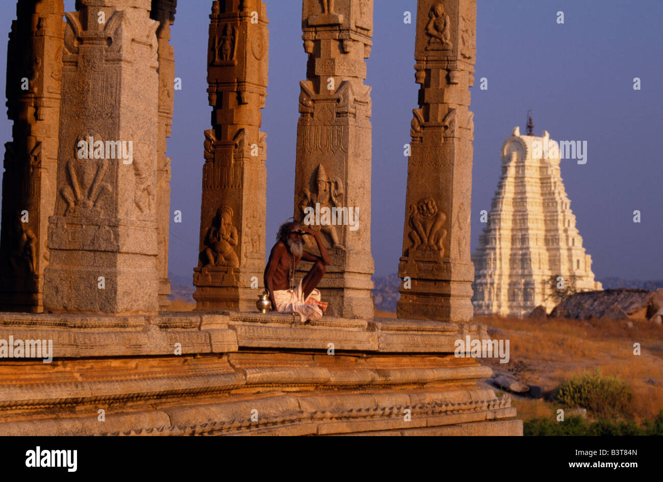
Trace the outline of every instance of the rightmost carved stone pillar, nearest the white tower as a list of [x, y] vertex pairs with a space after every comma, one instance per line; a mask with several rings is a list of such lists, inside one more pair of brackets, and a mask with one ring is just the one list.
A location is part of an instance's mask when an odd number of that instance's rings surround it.
[[[399, 318], [472, 319], [469, 253], [475, 0], [418, 0], [415, 54], [419, 107], [398, 276]], [[411, 287], [410, 287], [411, 284]]]

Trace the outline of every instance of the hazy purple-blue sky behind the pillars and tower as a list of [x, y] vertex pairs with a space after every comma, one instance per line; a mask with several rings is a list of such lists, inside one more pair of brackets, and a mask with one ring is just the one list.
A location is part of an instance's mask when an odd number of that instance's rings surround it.
[[[0, 7], [7, 39], [12, 1]], [[210, 128], [206, 48], [211, 1], [180, 1], [172, 45], [176, 76], [172, 157], [170, 271], [191, 278], [197, 263], [203, 131]], [[415, 25], [403, 13], [414, 0], [376, 0], [373, 50], [366, 84], [373, 86], [373, 212], [375, 272], [396, 272], [402, 248], [406, 158], [414, 83]], [[65, 2], [72, 10], [74, 1]], [[267, 0], [270, 20], [269, 87], [262, 130], [267, 133], [267, 249], [276, 228], [292, 215], [300, 80], [306, 74], [299, 0]], [[564, 12], [564, 25], [556, 23]], [[471, 110], [475, 112], [472, 250], [490, 210], [500, 174], [499, 149], [534, 110], [534, 133], [588, 143], [587, 164], [562, 160], [562, 178], [584, 246], [598, 278], [663, 278], [662, 156], [658, 143], [663, 113], [663, 2], [479, 0], [477, 65]], [[0, 42], [6, 66], [7, 42]], [[6, 67], [5, 67], [6, 68]], [[488, 90], [479, 90], [479, 79]], [[633, 90], [633, 78], [642, 90]], [[0, 76], [4, 92], [5, 76]], [[2, 143], [11, 123], [0, 119]], [[640, 210], [642, 222], [633, 223]]]

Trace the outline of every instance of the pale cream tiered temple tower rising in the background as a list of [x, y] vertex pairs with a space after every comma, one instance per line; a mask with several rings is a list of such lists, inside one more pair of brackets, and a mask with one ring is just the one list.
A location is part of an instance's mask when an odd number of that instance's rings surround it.
[[502, 175], [472, 256], [475, 314], [550, 310], [552, 276], [575, 276], [580, 291], [601, 290], [564, 190], [558, 143], [546, 131], [535, 137], [516, 127], [501, 153]]

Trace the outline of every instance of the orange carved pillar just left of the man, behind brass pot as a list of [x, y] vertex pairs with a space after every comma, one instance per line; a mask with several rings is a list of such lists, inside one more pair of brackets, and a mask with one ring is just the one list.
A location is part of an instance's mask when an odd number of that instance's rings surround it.
[[[265, 269], [269, 30], [261, 0], [213, 1], [196, 310], [255, 310]], [[261, 282], [262, 284], [262, 282]]]

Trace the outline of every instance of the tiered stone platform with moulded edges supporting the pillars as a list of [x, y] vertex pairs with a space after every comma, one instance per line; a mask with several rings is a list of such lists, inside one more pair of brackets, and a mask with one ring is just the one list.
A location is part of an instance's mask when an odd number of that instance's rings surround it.
[[522, 435], [509, 395], [476, 385], [491, 369], [453, 355], [485, 326], [297, 321], [0, 313], [0, 339], [54, 353], [0, 359], [0, 435]]

